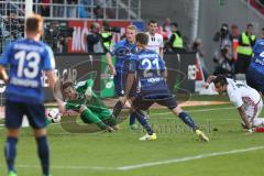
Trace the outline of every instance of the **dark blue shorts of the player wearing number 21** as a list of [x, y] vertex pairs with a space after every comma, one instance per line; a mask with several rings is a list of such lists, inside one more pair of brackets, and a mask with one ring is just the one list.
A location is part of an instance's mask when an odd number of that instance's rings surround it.
[[175, 96], [168, 90], [140, 92], [135, 96], [132, 105], [135, 109], [147, 110], [155, 102], [168, 109], [177, 107]]

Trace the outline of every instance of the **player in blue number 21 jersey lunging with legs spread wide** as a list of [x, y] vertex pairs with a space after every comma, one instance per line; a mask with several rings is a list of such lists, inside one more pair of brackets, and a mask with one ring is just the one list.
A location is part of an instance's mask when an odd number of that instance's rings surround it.
[[[198, 129], [191, 117], [177, 106], [175, 97], [170, 94], [165, 81], [165, 64], [160, 55], [146, 48], [148, 36], [145, 33], [138, 33], [135, 36], [139, 52], [130, 61], [130, 74], [125, 87], [125, 101], [130, 96], [132, 84], [136, 81], [138, 94], [132, 98], [132, 107], [136, 112], [147, 110], [154, 102], [167, 107], [175, 116], [179, 117], [185, 124], [204, 141], [209, 139]], [[135, 79], [136, 75], [136, 79]], [[140, 140], [156, 139], [155, 133], [147, 132]]]

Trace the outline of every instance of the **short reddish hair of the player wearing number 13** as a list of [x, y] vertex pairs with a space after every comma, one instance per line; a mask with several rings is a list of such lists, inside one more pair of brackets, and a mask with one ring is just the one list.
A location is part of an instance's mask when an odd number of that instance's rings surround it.
[[42, 33], [43, 32], [43, 16], [40, 14], [33, 14], [25, 21], [25, 31]]

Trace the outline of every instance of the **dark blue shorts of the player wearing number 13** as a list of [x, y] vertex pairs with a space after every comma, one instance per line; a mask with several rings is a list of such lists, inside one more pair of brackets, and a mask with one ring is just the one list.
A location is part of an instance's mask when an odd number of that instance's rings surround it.
[[45, 108], [43, 105], [15, 102], [7, 100], [6, 127], [8, 129], [19, 129], [22, 124], [23, 116], [28, 117], [30, 125], [33, 129], [43, 129], [46, 127]]

